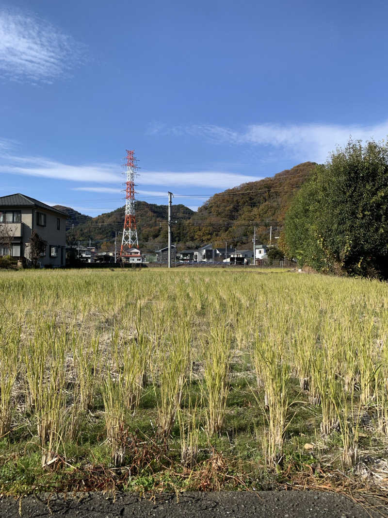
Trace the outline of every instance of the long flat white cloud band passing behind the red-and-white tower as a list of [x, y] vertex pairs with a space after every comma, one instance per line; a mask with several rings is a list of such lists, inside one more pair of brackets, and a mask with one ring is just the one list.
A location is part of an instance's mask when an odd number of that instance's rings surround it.
[[[116, 184], [124, 182], [124, 176], [114, 164], [68, 165], [37, 156], [15, 156], [0, 153], [0, 173], [54, 178], [72, 182], [90, 182], [88, 187], [77, 188], [91, 192], [119, 193], [120, 188], [95, 186], [95, 184]], [[142, 170], [140, 185], [189, 186], [197, 188], [228, 189], [241, 183], [260, 180], [259, 177], [240, 175], [227, 171], [147, 171]], [[94, 184], [94, 185], [93, 185]], [[162, 191], [143, 191], [148, 196], [159, 196]]]

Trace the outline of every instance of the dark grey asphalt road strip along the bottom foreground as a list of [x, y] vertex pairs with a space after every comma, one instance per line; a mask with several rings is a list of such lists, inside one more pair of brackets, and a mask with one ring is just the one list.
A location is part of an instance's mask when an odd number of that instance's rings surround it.
[[282, 518], [369, 518], [388, 516], [388, 508], [369, 513], [352, 500], [333, 493], [317, 491], [265, 491], [184, 493], [158, 495], [154, 501], [135, 495], [117, 494], [116, 498], [101, 493], [79, 494], [76, 498], [52, 496], [0, 499], [0, 517], [28, 516], [90, 516], [115, 518], [120, 516], [156, 518], [251, 518], [281, 516]]

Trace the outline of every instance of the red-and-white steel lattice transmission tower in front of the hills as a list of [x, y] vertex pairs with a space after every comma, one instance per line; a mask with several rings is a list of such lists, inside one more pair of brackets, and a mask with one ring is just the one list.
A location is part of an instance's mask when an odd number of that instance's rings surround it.
[[123, 239], [121, 241], [120, 257], [129, 255], [131, 248], [139, 248], [138, 234], [136, 232], [135, 218], [135, 175], [137, 170], [136, 158], [133, 155], [135, 151], [126, 149], [126, 197], [125, 197], [125, 220]]

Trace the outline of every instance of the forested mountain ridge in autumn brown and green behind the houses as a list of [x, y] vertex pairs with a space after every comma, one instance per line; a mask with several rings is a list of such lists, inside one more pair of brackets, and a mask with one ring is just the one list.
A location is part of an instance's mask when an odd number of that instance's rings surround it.
[[[310, 176], [315, 163], [305, 162], [273, 177], [257, 182], [243, 183], [233, 189], [215, 194], [194, 212], [184, 205], [172, 206], [172, 242], [179, 248], [199, 247], [214, 243], [225, 247], [228, 241], [236, 248], [251, 248], [253, 227], [256, 226], [257, 242], [268, 241], [268, 229], [281, 228], [287, 207], [294, 194]], [[101, 250], [112, 250], [115, 232], [121, 243], [124, 223], [124, 207], [91, 218], [59, 207], [69, 214], [68, 242], [78, 240], [84, 246], [90, 242]], [[153, 252], [167, 246], [167, 205], [135, 202], [139, 246], [143, 252]], [[76, 222], [78, 223], [76, 225]], [[74, 223], [74, 225], [72, 225]], [[73, 226], [73, 227], [72, 227]]]

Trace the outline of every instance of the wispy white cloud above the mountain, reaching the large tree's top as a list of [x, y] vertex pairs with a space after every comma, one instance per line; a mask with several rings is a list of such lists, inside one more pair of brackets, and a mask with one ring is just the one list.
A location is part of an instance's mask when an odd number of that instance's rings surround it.
[[324, 162], [337, 146], [345, 146], [349, 137], [361, 140], [385, 139], [388, 121], [362, 124], [251, 124], [240, 131], [211, 124], [167, 127], [154, 123], [150, 134], [191, 135], [214, 143], [261, 146], [268, 151], [281, 150], [295, 160]]

